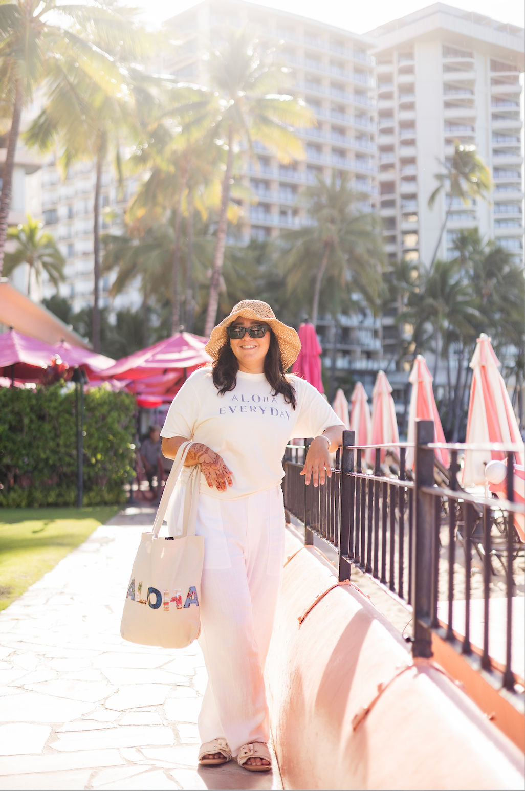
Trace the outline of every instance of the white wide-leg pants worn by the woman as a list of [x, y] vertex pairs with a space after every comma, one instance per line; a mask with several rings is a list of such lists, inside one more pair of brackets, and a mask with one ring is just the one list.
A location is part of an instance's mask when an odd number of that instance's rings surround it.
[[236, 756], [270, 739], [263, 674], [284, 561], [281, 486], [239, 500], [201, 493], [196, 533], [205, 546], [198, 642], [209, 679], [198, 731], [202, 742], [225, 739]]

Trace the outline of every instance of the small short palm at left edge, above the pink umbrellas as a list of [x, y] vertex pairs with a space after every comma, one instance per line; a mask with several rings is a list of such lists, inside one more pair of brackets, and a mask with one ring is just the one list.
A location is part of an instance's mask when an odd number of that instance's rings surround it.
[[59, 251], [51, 233], [46, 233], [41, 229], [42, 223], [33, 220], [28, 214], [25, 225], [17, 225], [16, 228], [9, 228], [7, 231], [7, 238], [16, 241], [17, 248], [14, 252], [6, 252], [3, 272], [8, 277], [21, 263], [27, 263], [29, 267], [28, 297], [31, 296], [32, 272], [35, 273], [38, 283], [41, 282], [42, 272], [47, 272], [57, 292], [59, 282], [64, 279], [63, 269], [66, 260]]

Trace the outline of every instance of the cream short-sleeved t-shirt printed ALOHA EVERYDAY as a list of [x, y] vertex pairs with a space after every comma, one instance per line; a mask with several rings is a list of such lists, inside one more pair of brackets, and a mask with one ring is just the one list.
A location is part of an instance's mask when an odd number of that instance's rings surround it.
[[[232, 471], [233, 486], [219, 492], [201, 475], [201, 491], [233, 500], [281, 482], [281, 460], [293, 437], [317, 437], [329, 426], [342, 426], [323, 396], [304, 379], [290, 376], [297, 406], [272, 395], [264, 373], [237, 373], [236, 388], [219, 395], [210, 368], [191, 374], [169, 407], [162, 437], [187, 437], [219, 453]], [[185, 483], [190, 467], [185, 467]]]

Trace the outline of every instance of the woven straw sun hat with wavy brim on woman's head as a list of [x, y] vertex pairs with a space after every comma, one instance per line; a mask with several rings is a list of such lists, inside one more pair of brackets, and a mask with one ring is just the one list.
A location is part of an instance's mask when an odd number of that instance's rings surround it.
[[226, 335], [226, 327], [229, 327], [232, 322], [242, 316], [244, 319], [252, 319], [261, 321], [264, 324], [269, 324], [274, 332], [275, 337], [278, 339], [279, 349], [281, 350], [282, 367], [286, 370], [293, 365], [300, 352], [299, 335], [293, 327], [287, 327], [281, 321], [275, 318], [274, 311], [266, 302], [260, 302], [256, 299], [244, 299], [239, 302], [229, 316], [217, 324], [210, 335], [210, 340], [206, 343], [205, 350], [213, 360], [217, 360], [221, 347], [225, 345], [228, 335]]

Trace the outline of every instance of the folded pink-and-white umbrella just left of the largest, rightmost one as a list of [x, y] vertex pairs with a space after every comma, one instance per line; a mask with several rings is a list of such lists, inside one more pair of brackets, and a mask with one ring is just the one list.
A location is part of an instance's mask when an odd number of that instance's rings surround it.
[[[412, 384], [410, 395], [410, 409], [408, 413], [408, 441], [413, 445], [406, 448], [406, 467], [414, 467], [414, 443], [416, 441], [416, 418], [434, 421], [434, 441], [444, 442], [445, 435], [441, 426], [440, 415], [437, 411], [436, 400], [432, 392], [432, 374], [421, 354], [414, 360], [414, 366], [408, 380]], [[436, 458], [448, 467], [448, 450], [436, 449]]]

